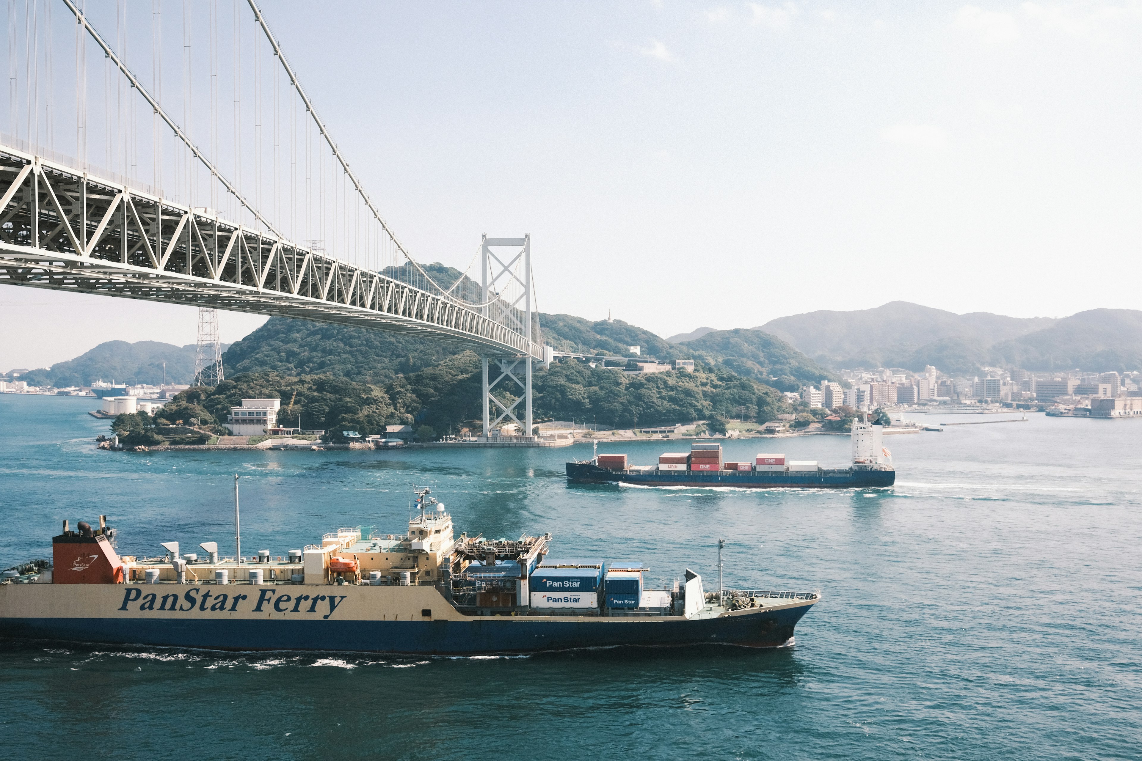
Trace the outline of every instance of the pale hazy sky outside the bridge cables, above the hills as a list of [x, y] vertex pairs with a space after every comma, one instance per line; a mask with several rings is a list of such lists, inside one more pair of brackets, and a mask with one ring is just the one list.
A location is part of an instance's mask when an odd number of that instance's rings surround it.
[[[1137, 2], [313, 8], [263, 6], [404, 244], [465, 269], [528, 233], [542, 311], [670, 335], [898, 299], [1142, 308]], [[0, 322], [0, 370], [196, 327], [19, 288]]]

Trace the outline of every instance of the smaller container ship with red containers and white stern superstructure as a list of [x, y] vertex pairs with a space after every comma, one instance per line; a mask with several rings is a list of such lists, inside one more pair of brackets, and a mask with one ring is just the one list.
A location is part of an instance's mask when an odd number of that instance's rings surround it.
[[883, 488], [896, 481], [892, 453], [880, 440], [883, 429], [853, 422], [852, 465], [822, 468], [812, 460], [786, 460], [785, 454], [758, 453], [754, 461], [726, 462], [722, 445], [694, 442], [690, 452], [667, 452], [658, 464], [634, 465], [626, 454], [598, 454], [566, 463], [568, 480], [579, 484], [638, 486], [731, 486], [739, 488]]

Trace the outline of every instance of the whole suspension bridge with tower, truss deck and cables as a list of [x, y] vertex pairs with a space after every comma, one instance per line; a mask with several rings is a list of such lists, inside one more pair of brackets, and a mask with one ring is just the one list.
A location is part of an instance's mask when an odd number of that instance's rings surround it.
[[349, 169], [255, 0], [137, 8], [7, 0], [0, 284], [449, 341], [483, 361], [483, 437], [509, 419], [530, 439], [533, 364], [552, 357], [530, 236], [483, 236], [480, 282], [445, 288]]

